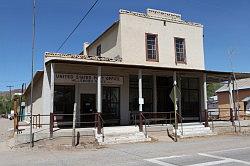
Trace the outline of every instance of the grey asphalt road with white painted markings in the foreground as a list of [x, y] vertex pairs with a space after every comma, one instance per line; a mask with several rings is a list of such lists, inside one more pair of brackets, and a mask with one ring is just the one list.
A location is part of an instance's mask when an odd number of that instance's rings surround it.
[[250, 165], [250, 136], [110, 145], [100, 149], [0, 149], [0, 165], [175, 166]]

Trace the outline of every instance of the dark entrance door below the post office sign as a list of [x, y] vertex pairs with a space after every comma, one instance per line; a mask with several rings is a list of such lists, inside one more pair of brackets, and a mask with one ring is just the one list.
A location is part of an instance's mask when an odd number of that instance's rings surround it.
[[96, 113], [96, 95], [95, 94], [81, 94], [81, 108], [80, 108], [81, 127], [93, 127]]

